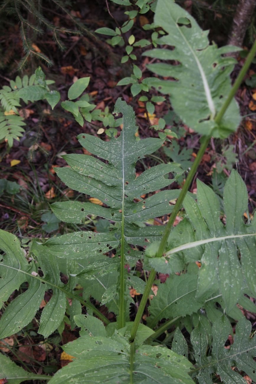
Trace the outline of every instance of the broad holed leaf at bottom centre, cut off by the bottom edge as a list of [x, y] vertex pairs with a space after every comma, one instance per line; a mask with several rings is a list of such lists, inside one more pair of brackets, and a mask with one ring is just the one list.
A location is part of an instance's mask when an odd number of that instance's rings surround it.
[[[140, 324], [134, 358], [130, 356], [130, 328], [112, 332], [107, 337], [98, 320], [92, 316], [75, 316], [81, 326], [81, 337], [63, 349], [74, 356], [74, 361], [60, 369], [49, 381], [59, 383], [154, 383], [190, 384], [188, 371], [192, 364], [168, 348], [142, 345], [152, 331]], [[130, 324], [131, 325], [131, 324]], [[84, 328], [86, 329], [84, 331]], [[105, 333], [104, 333], [105, 331]], [[87, 333], [87, 334], [86, 334]], [[131, 365], [132, 360], [132, 365]], [[157, 363], [157, 364], [156, 364]], [[132, 381], [131, 381], [132, 380]]]

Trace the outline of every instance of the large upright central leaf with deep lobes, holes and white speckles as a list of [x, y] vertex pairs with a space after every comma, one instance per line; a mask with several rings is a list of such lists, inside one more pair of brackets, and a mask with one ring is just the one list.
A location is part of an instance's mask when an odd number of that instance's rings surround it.
[[[142, 252], [133, 250], [130, 245], [144, 246], [148, 241], [158, 240], [163, 229], [157, 225], [139, 228], [134, 223], [170, 213], [173, 209], [170, 200], [177, 198], [179, 194], [179, 190], [164, 190], [141, 198], [141, 195], [150, 194], [171, 184], [175, 178], [169, 179], [170, 173], [179, 177], [183, 171], [169, 164], [160, 164], [136, 177], [136, 162], [146, 154], [156, 151], [164, 141], [155, 138], [137, 140], [134, 111], [125, 101], [117, 100], [115, 112], [122, 113], [123, 129], [119, 137], [112, 137], [105, 142], [89, 134], [78, 136], [80, 144], [98, 158], [69, 154], [64, 156], [69, 167], [56, 168], [56, 173], [69, 188], [104, 203], [102, 206], [92, 202], [54, 203], [51, 208], [59, 219], [81, 223], [86, 215], [93, 214], [120, 224], [110, 232], [69, 233], [51, 238], [43, 245], [58, 257], [79, 258], [84, 273], [93, 263], [99, 265], [104, 262], [106, 268], [109, 261], [117, 268], [119, 263], [113, 263], [113, 260], [117, 258], [119, 261], [120, 244], [129, 263], [142, 258]], [[134, 199], [139, 199], [139, 202], [135, 203]], [[107, 258], [105, 254], [115, 249], [116, 257]]]

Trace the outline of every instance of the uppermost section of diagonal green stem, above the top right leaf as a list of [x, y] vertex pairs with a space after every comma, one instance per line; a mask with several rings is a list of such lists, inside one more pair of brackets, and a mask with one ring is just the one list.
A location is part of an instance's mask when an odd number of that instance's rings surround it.
[[228, 97], [226, 98], [223, 106], [221, 107], [220, 111], [216, 114], [215, 116], [215, 122], [217, 124], [220, 124], [221, 122], [221, 119], [223, 118], [223, 115], [224, 113], [226, 112], [226, 110], [228, 109], [228, 106], [230, 105], [233, 97], [235, 96], [236, 92], [238, 91], [238, 88], [240, 86], [240, 84], [242, 83], [243, 81], [243, 78], [244, 76], [246, 75], [248, 69], [249, 69], [249, 66], [251, 65], [251, 62], [253, 61], [254, 59], [254, 56], [256, 55], [256, 40], [254, 41], [253, 43], [253, 46], [246, 58], [246, 61], [244, 62], [244, 65], [243, 67], [241, 68], [241, 71], [239, 72], [237, 78], [236, 78], [236, 81], [235, 83], [233, 84], [233, 87], [231, 88], [230, 90], [230, 93], [228, 94]]

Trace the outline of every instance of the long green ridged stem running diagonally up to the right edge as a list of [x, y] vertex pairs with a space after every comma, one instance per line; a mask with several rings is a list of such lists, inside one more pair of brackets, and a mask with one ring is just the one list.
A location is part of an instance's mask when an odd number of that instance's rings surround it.
[[[243, 78], [244, 78], [246, 72], [248, 71], [249, 66], [251, 65], [251, 62], [253, 61], [255, 54], [256, 54], [256, 40], [254, 41], [254, 44], [251, 48], [251, 51], [249, 52], [249, 54], [246, 58], [246, 61], [243, 65], [243, 68], [241, 68], [241, 71], [239, 72], [238, 77], [236, 78], [236, 81], [233, 84], [233, 86], [230, 90], [230, 93], [228, 94], [228, 97], [226, 98], [225, 102], [223, 103], [223, 106], [221, 107], [220, 111], [217, 113], [217, 115], [215, 117], [216, 124], [220, 124], [223, 115], [225, 114], [226, 110], [228, 109], [228, 106], [230, 105], [230, 103], [231, 103], [233, 97], [235, 96], [240, 84], [242, 83]], [[203, 136], [202, 137], [202, 142], [201, 142], [201, 146], [200, 146], [200, 149], [198, 151], [197, 157], [195, 158], [195, 161], [193, 162], [193, 165], [192, 165], [190, 171], [188, 172], [188, 176], [187, 176], [187, 179], [185, 181], [185, 184], [182, 187], [182, 190], [181, 190], [180, 195], [177, 199], [175, 207], [174, 207], [174, 209], [170, 215], [169, 221], [165, 227], [164, 235], [163, 235], [162, 240], [160, 242], [156, 257], [162, 257], [162, 255], [164, 253], [165, 245], [167, 243], [168, 236], [169, 236], [170, 231], [172, 229], [175, 218], [176, 218], [176, 216], [180, 210], [182, 202], [185, 198], [185, 195], [187, 194], [188, 188], [190, 187], [190, 184], [191, 184], [193, 177], [197, 171], [197, 168], [201, 162], [201, 158], [203, 157], [205, 149], [208, 146], [208, 143], [210, 142], [210, 139], [211, 139], [211, 136]], [[154, 268], [152, 268], [150, 275], [149, 275], [149, 279], [148, 279], [147, 284], [145, 286], [145, 290], [144, 290], [142, 299], [140, 301], [139, 309], [137, 311], [132, 330], [131, 330], [130, 343], [134, 342], [134, 338], [135, 338], [135, 335], [137, 333], [137, 329], [139, 327], [140, 320], [142, 318], [145, 306], [147, 304], [147, 298], [149, 296], [151, 286], [155, 280], [156, 273], [157, 272], [154, 270]]]

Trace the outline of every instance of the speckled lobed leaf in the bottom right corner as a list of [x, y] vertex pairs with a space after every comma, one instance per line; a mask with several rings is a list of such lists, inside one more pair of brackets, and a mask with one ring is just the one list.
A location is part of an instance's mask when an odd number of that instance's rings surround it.
[[225, 349], [225, 343], [230, 334], [230, 323], [226, 316], [221, 316], [212, 328], [212, 348], [210, 356], [206, 355], [208, 346], [207, 332], [199, 321], [198, 326], [191, 334], [194, 357], [197, 362], [191, 371], [200, 383], [212, 383], [211, 374], [216, 373], [224, 383], [243, 383], [241, 375], [236, 372], [244, 371], [253, 380], [256, 380], [256, 338], [250, 338], [251, 323], [243, 317], [236, 325], [234, 343]]

